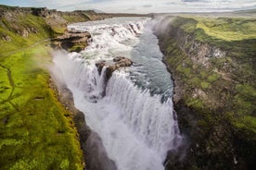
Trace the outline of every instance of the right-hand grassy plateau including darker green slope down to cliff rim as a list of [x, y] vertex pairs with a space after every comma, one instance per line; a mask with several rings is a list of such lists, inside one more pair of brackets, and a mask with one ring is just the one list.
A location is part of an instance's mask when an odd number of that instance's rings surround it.
[[184, 30], [199, 42], [218, 46], [241, 58], [256, 53], [255, 23], [256, 18], [177, 17], [172, 27]]

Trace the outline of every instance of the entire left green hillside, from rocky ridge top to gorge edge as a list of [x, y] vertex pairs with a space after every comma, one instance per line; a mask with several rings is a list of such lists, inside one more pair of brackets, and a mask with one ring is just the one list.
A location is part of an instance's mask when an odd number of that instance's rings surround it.
[[83, 169], [72, 115], [50, 88], [45, 66], [49, 39], [88, 18], [35, 10], [0, 6], [0, 169]]

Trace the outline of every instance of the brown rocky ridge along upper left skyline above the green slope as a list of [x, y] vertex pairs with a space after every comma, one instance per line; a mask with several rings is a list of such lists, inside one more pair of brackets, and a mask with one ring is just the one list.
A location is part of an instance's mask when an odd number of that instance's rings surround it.
[[[111, 14], [97, 14], [94, 11], [62, 12], [55, 9], [35, 7], [0, 6], [0, 33], [2, 40], [11, 41], [12, 37], [6, 31], [18, 33], [23, 37], [41, 33], [43, 30], [50, 37], [62, 35], [66, 26], [72, 22], [111, 18]], [[39, 24], [37, 24], [40, 22]], [[39, 28], [44, 25], [43, 28]]]

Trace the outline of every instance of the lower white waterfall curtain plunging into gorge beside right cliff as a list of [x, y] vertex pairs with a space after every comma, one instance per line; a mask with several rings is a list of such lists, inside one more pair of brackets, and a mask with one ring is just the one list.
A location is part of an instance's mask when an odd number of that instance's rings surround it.
[[116, 106], [123, 123], [164, 158], [177, 129], [172, 99], [165, 103], [160, 99], [160, 95], [150, 96], [149, 91], [141, 91], [122, 74], [115, 74], [109, 79], [105, 102]]

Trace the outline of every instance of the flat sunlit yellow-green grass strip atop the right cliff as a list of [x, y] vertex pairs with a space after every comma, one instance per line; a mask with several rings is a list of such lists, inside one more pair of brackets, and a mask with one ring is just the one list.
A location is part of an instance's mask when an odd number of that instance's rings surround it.
[[196, 35], [198, 40], [239, 41], [256, 38], [255, 18], [177, 17], [173, 26]]

